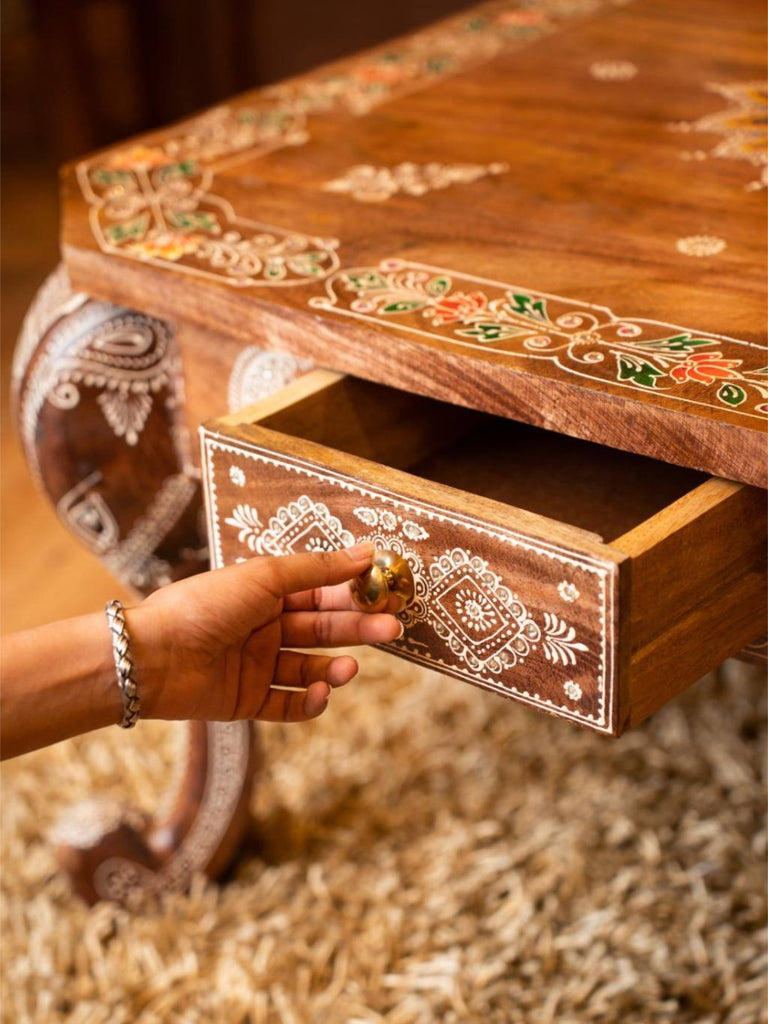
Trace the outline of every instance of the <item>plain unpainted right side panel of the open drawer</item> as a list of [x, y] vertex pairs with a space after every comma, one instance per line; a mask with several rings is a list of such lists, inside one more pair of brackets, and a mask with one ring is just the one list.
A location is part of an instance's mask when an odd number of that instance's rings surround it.
[[632, 558], [636, 725], [764, 628], [765, 492], [710, 479], [613, 542]]

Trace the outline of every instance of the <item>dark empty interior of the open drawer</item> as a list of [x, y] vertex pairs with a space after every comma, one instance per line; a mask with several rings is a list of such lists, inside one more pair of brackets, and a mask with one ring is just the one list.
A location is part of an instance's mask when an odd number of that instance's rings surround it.
[[708, 479], [352, 377], [260, 425], [557, 519], [607, 543]]

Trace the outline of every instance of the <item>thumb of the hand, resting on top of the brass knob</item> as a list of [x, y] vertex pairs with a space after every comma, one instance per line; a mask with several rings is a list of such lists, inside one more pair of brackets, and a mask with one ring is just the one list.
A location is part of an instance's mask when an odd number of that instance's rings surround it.
[[368, 542], [340, 551], [311, 551], [300, 555], [279, 555], [251, 559], [259, 582], [275, 597], [285, 597], [317, 587], [331, 587], [364, 572], [374, 557]]

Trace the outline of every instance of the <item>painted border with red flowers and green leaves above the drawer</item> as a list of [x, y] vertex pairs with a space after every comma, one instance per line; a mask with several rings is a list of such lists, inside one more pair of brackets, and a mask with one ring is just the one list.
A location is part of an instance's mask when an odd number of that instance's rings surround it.
[[326, 292], [309, 304], [518, 359], [550, 359], [616, 388], [761, 419], [768, 413], [766, 352], [752, 342], [620, 318], [604, 306], [399, 259], [336, 273]]

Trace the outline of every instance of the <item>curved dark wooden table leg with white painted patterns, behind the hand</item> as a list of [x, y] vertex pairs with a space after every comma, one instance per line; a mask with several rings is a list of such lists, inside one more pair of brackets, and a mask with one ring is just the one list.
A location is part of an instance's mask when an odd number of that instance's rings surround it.
[[[59, 267], [25, 321], [13, 391], [36, 481], [116, 577], [146, 593], [207, 567], [170, 325], [73, 293]], [[88, 801], [63, 816], [75, 889], [131, 902], [197, 871], [216, 877], [246, 828], [255, 768], [250, 723], [189, 723], [167, 813]]]

